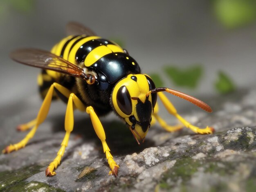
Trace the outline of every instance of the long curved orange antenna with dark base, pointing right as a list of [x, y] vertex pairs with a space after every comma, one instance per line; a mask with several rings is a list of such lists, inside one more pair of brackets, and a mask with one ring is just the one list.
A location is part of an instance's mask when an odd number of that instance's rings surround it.
[[212, 112], [211, 107], [209, 105], [207, 105], [206, 103], [204, 103], [202, 100], [199, 100], [198, 98], [195, 98], [193, 96], [184, 94], [182, 92], [176, 91], [174, 89], [168, 89], [168, 88], [165, 88], [165, 87], [159, 87], [159, 88], [152, 89], [151, 91], [149, 91], [146, 94], [146, 96], [149, 96], [150, 93], [157, 93], [157, 92], [168, 92], [168, 93], [173, 94], [173, 95], [175, 95], [177, 97], [185, 99], [185, 100], [189, 101], [190, 103], [193, 103], [194, 105], [200, 107], [201, 109], [204, 109], [205, 111], [207, 111], [209, 113]]

